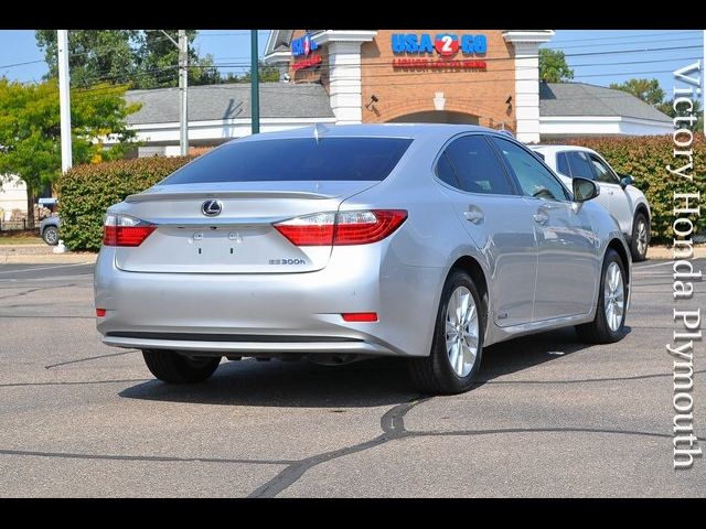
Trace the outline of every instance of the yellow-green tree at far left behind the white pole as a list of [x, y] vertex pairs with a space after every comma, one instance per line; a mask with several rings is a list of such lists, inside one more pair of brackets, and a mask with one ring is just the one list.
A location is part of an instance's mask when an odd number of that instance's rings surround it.
[[[128, 115], [139, 104], [125, 100], [127, 86], [96, 85], [72, 90], [74, 163], [122, 158], [133, 147]], [[116, 144], [104, 147], [110, 137]], [[26, 184], [28, 222], [34, 226], [34, 198], [61, 173], [61, 119], [56, 79], [22, 84], [0, 78], [0, 175], [15, 174]]]

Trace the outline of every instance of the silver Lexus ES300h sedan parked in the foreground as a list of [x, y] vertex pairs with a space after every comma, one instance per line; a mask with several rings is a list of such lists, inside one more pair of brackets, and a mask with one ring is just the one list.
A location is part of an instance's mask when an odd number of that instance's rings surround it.
[[224, 356], [391, 355], [425, 392], [466, 391], [491, 344], [621, 339], [630, 249], [598, 193], [481, 127], [238, 139], [108, 209], [97, 327], [167, 382]]

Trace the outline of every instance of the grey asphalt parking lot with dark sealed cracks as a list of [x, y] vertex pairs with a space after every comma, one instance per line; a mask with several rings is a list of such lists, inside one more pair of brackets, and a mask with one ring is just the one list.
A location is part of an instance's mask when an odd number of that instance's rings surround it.
[[705, 458], [672, 468], [670, 264], [635, 264], [622, 342], [500, 344], [478, 387], [434, 398], [394, 359], [224, 361], [169, 387], [98, 339], [93, 266], [0, 266], [0, 497], [706, 496]]

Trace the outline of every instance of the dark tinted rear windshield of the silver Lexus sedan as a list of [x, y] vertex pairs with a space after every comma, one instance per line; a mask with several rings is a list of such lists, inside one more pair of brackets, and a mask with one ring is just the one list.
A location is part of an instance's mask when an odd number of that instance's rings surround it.
[[411, 143], [403, 138], [296, 138], [235, 141], [160, 182], [381, 181]]

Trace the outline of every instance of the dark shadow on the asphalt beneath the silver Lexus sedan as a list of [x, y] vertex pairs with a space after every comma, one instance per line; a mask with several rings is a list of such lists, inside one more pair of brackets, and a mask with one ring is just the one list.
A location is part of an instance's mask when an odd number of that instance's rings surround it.
[[[625, 327], [630, 333], [630, 327]], [[484, 352], [477, 386], [590, 347], [573, 328], [504, 342]], [[376, 358], [343, 366], [310, 361], [224, 361], [208, 380], [173, 386], [150, 380], [120, 391], [128, 399], [224, 406], [368, 408], [408, 402], [421, 395], [411, 386], [405, 360]]]

